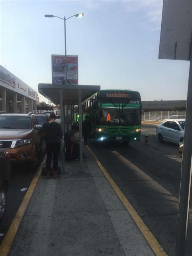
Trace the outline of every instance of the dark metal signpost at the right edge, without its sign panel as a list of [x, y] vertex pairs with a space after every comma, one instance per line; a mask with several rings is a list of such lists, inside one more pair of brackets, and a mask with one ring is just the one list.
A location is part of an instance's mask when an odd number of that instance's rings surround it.
[[181, 185], [179, 195], [179, 215], [177, 226], [176, 256], [185, 255], [187, 240], [190, 187], [192, 173], [192, 40], [189, 69], [189, 83], [186, 108], [185, 135], [183, 144], [183, 160], [181, 167]]

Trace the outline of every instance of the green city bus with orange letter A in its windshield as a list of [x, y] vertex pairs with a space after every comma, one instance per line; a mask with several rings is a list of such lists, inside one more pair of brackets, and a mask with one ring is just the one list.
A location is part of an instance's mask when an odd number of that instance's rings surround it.
[[[140, 141], [141, 96], [131, 90], [100, 90], [83, 102], [89, 115], [92, 141]], [[84, 118], [83, 118], [84, 119]]]

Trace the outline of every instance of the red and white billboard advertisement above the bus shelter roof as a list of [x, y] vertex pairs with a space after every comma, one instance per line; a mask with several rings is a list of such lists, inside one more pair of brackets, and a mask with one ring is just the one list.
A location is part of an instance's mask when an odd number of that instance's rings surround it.
[[[51, 55], [52, 83], [65, 83], [65, 55]], [[67, 55], [67, 83], [78, 84], [78, 55]]]

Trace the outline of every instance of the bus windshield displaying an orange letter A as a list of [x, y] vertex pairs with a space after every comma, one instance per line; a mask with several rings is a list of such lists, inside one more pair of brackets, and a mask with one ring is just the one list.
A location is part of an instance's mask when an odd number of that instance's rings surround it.
[[128, 104], [129, 102], [130, 100], [98, 100], [96, 124], [140, 125], [140, 105]]

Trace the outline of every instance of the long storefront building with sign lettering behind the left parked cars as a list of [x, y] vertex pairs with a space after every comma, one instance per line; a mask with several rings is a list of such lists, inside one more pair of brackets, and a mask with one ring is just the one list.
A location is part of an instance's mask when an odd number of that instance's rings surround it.
[[0, 65], [0, 111], [36, 113], [37, 100], [35, 90]]

